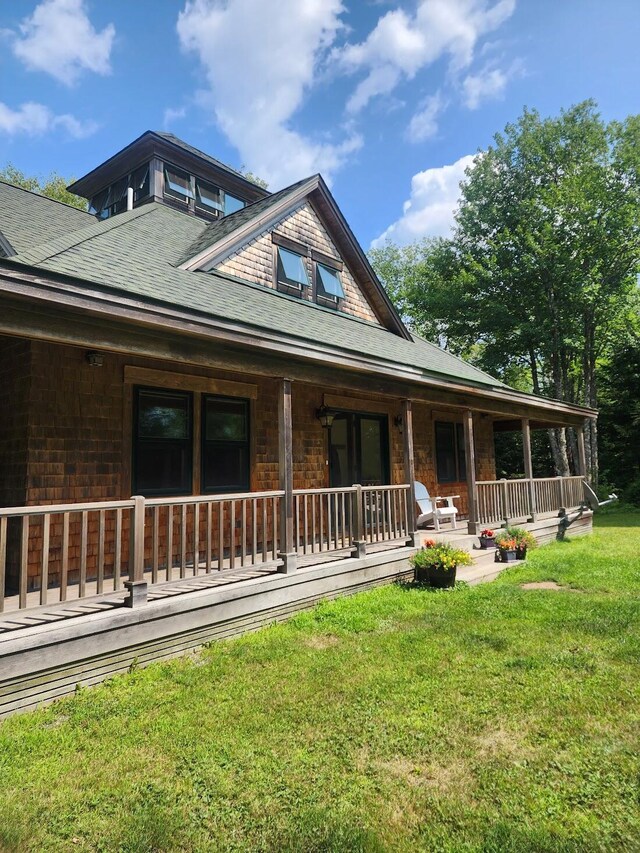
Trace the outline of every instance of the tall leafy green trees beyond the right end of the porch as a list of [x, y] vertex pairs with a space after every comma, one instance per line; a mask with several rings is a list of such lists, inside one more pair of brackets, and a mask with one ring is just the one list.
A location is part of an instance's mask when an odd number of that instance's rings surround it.
[[[435, 256], [433, 244], [422, 249], [417, 273], [396, 285], [417, 328], [433, 336], [435, 324], [452, 349], [518, 387], [597, 407], [598, 365], [637, 291], [640, 116], [605, 124], [593, 101], [548, 119], [525, 109], [467, 170], [453, 238]], [[596, 437], [594, 424], [594, 473]], [[575, 437], [569, 452], [565, 430], [550, 439], [566, 474]]]

